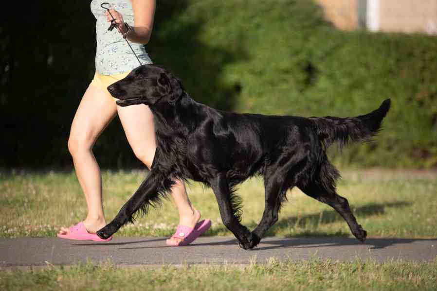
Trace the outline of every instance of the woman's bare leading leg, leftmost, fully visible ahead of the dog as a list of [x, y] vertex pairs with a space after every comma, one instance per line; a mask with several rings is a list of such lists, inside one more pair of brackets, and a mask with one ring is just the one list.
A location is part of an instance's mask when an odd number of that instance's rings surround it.
[[[100, 88], [89, 86], [74, 115], [68, 140], [77, 179], [88, 206], [88, 214], [83, 223], [91, 233], [106, 225], [102, 205], [102, 177], [92, 146], [116, 114], [114, 100]], [[68, 229], [64, 227], [59, 231], [63, 234], [67, 232]]]

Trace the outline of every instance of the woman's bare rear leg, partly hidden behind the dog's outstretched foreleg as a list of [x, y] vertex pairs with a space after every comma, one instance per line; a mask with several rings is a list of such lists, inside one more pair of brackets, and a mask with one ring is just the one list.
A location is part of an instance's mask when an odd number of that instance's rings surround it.
[[[152, 112], [144, 104], [117, 106], [117, 111], [134, 154], [150, 169], [156, 150]], [[179, 224], [194, 227], [200, 212], [191, 205], [183, 182], [176, 181], [171, 196], [178, 207]]]

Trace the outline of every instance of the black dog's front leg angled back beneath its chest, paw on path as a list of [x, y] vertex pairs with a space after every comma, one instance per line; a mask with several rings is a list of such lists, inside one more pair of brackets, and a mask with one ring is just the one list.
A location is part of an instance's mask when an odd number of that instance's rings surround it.
[[[236, 217], [236, 207], [231, 202], [232, 196], [235, 195], [229, 190], [228, 179], [226, 173], [219, 173], [212, 181], [211, 187], [216, 196], [218, 208], [220, 209], [221, 220], [223, 224], [235, 235], [240, 247], [247, 250], [252, 248], [252, 234], [246, 226], [241, 225]], [[235, 200], [234, 200], [235, 201]]]

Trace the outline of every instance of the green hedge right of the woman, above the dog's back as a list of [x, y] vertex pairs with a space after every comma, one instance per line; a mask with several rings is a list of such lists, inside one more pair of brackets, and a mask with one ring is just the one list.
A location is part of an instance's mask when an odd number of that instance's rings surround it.
[[[180, 34], [192, 23], [201, 23], [194, 35]], [[160, 48], [180, 48], [171, 57], [154, 50], [154, 58], [182, 76], [192, 97], [223, 109], [346, 117], [391, 98], [375, 141], [332, 151], [336, 162], [437, 166], [435, 36], [339, 31], [308, 0], [191, 1], [155, 36]], [[186, 51], [187, 36], [200, 45]], [[227, 89], [199, 86], [208, 74]]]

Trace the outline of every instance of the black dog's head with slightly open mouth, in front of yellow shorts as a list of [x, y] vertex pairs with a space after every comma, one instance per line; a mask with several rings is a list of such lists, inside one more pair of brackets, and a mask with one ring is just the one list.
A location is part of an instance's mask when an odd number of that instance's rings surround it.
[[164, 68], [142, 65], [108, 86], [117, 105], [175, 103], [184, 93], [181, 81]]

